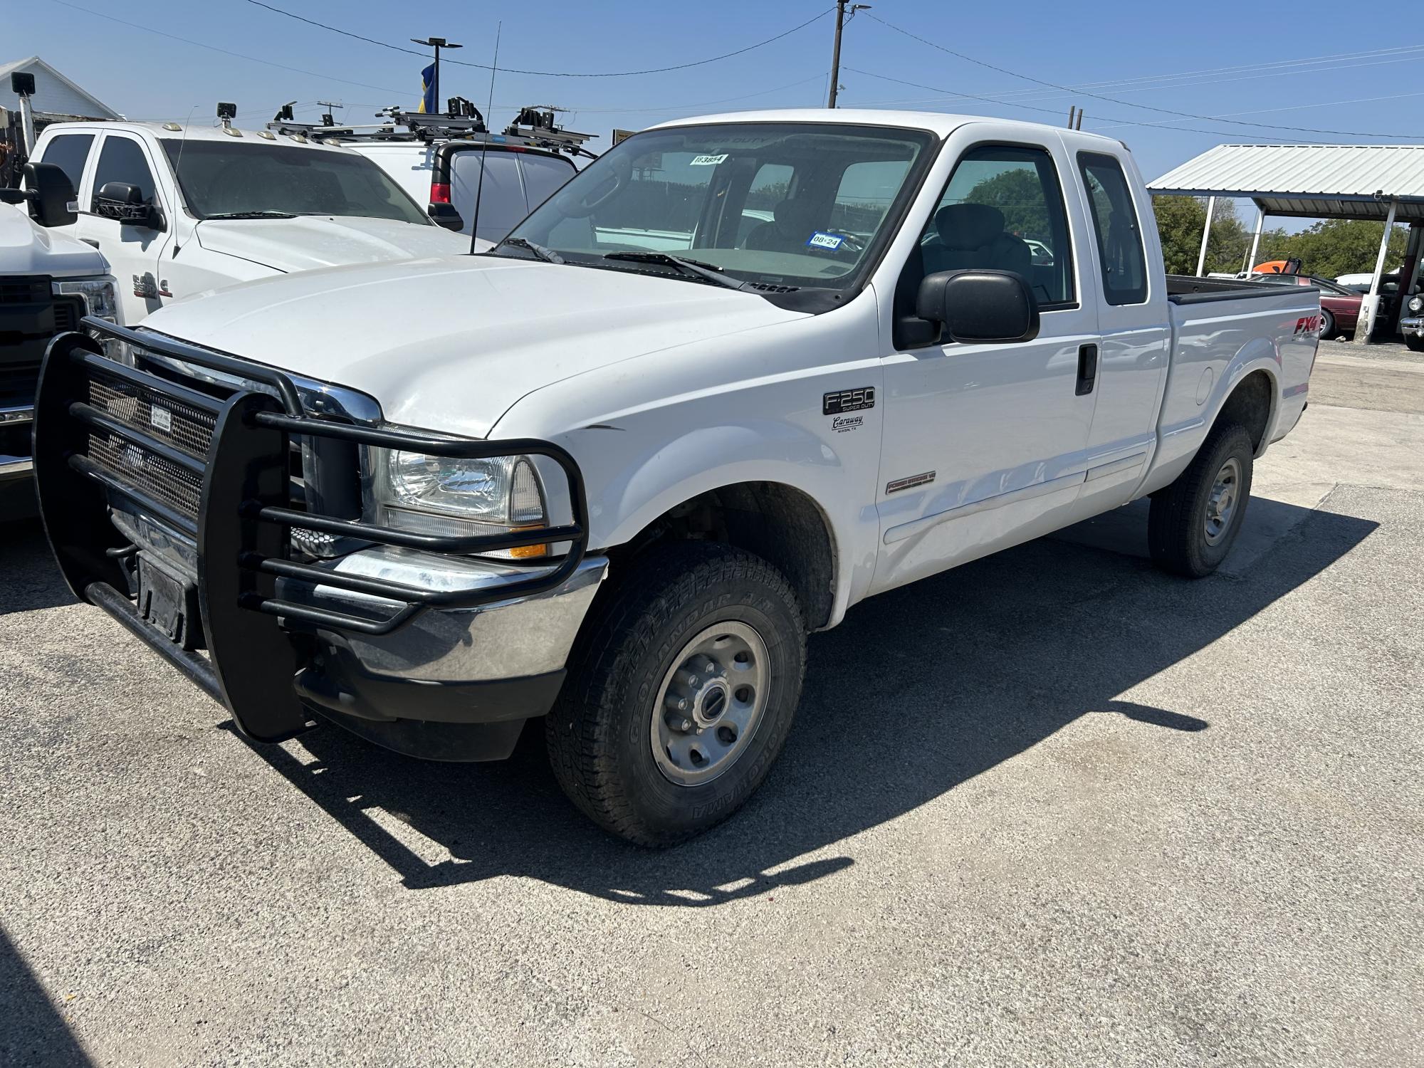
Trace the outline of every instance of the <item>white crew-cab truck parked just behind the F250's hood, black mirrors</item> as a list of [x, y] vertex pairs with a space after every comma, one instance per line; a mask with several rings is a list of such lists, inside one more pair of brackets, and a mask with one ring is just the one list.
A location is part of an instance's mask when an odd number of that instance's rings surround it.
[[34, 158], [60, 167], [137, 323], [194, 293], [337, 263], [468, 252], [349, 148], [175, 122], [56, 122]]

